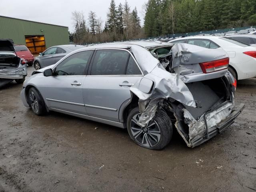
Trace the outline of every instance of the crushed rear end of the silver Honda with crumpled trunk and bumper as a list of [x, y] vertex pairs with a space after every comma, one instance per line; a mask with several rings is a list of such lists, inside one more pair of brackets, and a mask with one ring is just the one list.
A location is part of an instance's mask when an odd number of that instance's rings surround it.
[[[158, 65], [130, 89], [139, 98], [140, 125], [162, 108], [189, 147], [230, 126], [244, 104], [235, 104], [236, 80], [228, 72], [226, 52], [189, 44], [158, 49], [148, 49]], [[164, 49], [171, 51], [159, 56]]]

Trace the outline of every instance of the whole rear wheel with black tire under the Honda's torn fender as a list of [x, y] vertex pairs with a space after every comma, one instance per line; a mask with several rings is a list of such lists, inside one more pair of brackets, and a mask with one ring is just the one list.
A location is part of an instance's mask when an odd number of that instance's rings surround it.
[[[134, 117], [136, 117], [136, 115], [138, 115], [139, 118], [140, 110], [138, 107], [131, 110], [127, 118], [128, 133], [136, 144], [152, 150], [161, 150], [169, 144], [173, 131], [172, 122], [164, 110], [158, 110], [154, 118], [146, 126], [146, 129], [135, 123]], [[151, 125], [154, 126], [154, 128], [152, 128]], [[158, 129], [159, 131], [156, 131]], [[134, 132], [134, 130], [138, 132]]]

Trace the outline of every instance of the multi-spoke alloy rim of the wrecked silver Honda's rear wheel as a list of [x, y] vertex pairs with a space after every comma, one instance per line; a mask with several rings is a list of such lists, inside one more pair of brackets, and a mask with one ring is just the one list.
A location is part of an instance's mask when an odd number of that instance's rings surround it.
[[161, 132], [155, 120], [151, 120], [145, 127], [138, 124], [140, 114], [132, 117], [130, 122], [131, 132], [134, 139], [142, 146], [153, 147], [156, 146], [161, 139]]

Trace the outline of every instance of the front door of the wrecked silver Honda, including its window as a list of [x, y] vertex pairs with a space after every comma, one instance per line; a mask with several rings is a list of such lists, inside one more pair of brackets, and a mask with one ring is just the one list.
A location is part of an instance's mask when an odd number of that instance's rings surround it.
[[94, 50], [76, 52], [53, 69], [54, 76], [44, 77], [40, 92], [52, 110], [86, 114], [82, 87]]

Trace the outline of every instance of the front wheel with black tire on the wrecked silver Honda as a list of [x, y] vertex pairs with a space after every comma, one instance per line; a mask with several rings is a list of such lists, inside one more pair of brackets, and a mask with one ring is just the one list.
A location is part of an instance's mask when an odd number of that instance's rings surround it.
[[44, 104], [44, 100], [38, 90], [32, 87], [28, 91], [27, 101], [29, 106], [32, 108], [34, 114], [40, 116], [46, 113], [46, 106]]

